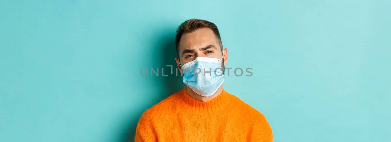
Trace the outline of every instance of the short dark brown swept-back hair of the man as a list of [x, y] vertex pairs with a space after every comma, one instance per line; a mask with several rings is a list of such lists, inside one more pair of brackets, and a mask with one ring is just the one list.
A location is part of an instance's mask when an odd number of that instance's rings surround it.
[[175, 45], [176, 45], [176, 52], [178, 54], [179, 59], [180, 59], [179, 41], [181, 40], [182, 34], [193, 32], [194, 30], [198, 30], [200, 28], [210, 28], [213, 31], [213, 33], [216, 36], [216, 39], [218, 40], [217, 42], [220, 44], [220, 48], [222, 51], [222, 42], [221, 42], [220, 32], [217, 26], [210, 21], [190, 19], [181, 23], [181, 25], [179, 25], [178, 29], [176, 30]]

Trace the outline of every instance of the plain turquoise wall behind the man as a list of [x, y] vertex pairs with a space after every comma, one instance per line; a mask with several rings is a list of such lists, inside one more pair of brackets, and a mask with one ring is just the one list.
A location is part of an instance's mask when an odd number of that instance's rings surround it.
[[[0, 141], [133, 141], [141, 114], [184, 87], [176, 28], [215, 23], [224, 88], [276, 142], [391, 141], [391, 2], [9, 0], [0, 4]], [[167, 69], [167, 70], [166, 70]], [[167, 71], [167, 72], [166, 72]], [[165, 67], [165, 74], [169, 67]]]

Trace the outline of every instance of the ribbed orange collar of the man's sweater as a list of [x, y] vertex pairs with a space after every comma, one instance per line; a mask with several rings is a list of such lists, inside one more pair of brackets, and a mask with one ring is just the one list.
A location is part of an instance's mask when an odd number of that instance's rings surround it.
[[230, 102], [231, 99], [228, 92], [226, 92], [224, 89], [222, 90], [221, 94], [219, 94], [219, 96], [206, 102], [199, 101], [197, 99], [190, 97], [187, 94], [187, 87], [185, 87], [179, 93], [179, 95], [181, 96], [182, 101], [185, 104], [185, 107], [199, 114], [210, 114], [212, 112], [217, 112], [222, 108], [224, 108]]

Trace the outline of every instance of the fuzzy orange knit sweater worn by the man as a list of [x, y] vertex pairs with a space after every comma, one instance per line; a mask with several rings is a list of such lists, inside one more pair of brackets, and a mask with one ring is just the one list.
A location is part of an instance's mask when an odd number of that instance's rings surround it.
[[136, 142], [272, 142], [265, 116], [225, 90], [207, 102], [185, 89], [146, 110]]

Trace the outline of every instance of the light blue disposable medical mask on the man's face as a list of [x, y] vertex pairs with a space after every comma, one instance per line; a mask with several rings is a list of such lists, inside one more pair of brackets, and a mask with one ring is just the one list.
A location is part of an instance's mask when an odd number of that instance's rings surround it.
[[182, 67], [183, 83], [201, 96], [214, 94], [222, 82], [221, 59], [197, 57], [193, 61], [184, 64]]

